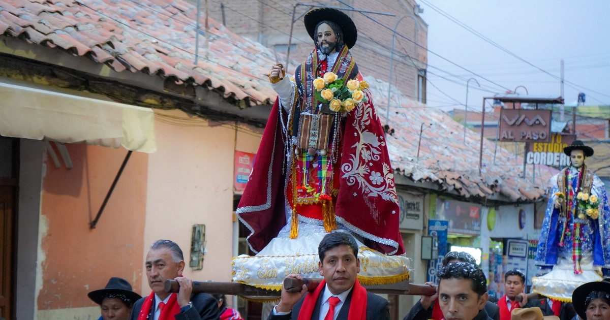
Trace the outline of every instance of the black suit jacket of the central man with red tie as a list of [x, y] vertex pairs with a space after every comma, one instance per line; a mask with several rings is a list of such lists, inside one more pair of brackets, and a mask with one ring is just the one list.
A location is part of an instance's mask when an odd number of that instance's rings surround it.
[[[343, 302], [343, 306], [341, 307], [341, 310], [339, 310], [339, 315], [337, 315], [337, 320], [347, 320], [347, 315], [350, 311], [351, 294], [353, 292], [354, 291], [352, 290], [345, 298], [345, 302]], [[299, 302], [296, 302], [296, 304], [292, 307], [292, 311], [288, 315], [275, 316], [273, 315], [273, 311], [271, 311], [271, 314], [267, 320], [296, 320], [299, 317], [299, 312], [303, 306], [304, 299], [305, 296], [302, 297]], [[318, 301], [315, 303], [314, 313], [312, 313], [311, 316], [312, 320], [320, 319], [321, 300], [322, 294], [320, 294]], [[367, 292], [367, 320], [390, 320], [390, 307], [386, 299], [377, 296], [376, 294]]]

